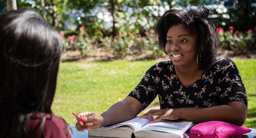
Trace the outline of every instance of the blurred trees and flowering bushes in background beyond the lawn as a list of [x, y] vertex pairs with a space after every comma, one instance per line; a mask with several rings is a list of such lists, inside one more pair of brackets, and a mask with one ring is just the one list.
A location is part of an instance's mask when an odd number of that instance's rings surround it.
[[40, 12], [63, 36], [63, 53], [78, 50], [86, 58], [104, 48], [110, 59], [145, 52], [148, 58], [159, 58], [165, 55], [154, 28], [162, 14], [200, 5], [212, 10], [220, 55], [250, 58], [255, 54], [256, 0], [1, 0], [0, 12], [8, 8]]

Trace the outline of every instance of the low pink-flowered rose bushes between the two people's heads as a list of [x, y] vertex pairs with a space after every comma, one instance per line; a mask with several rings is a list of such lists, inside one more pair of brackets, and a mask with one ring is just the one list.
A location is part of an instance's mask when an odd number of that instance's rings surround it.
[[65, 52], [67, 48], [74, 48], [79, 50], [82, 56], [88, 57], [95, 48], [103, 46], [117, 58], [126, 58], [127, 55], [135, 55], [144, 51], [152, 51], [152, 58], [165, 56], [157, 44], [157, 35], [153, 29], [144, 32], [143, 36], [134, 35], [134, 32], [131, 32], [133, 30], [122, 31], [119, 36], [110, 35], [104, 38], [100, 31], [95, 31], [95, 36], [90, 36], [86, 33], [84, 26], [81, 26], [78, 31], [62, 31], [63, 51]]

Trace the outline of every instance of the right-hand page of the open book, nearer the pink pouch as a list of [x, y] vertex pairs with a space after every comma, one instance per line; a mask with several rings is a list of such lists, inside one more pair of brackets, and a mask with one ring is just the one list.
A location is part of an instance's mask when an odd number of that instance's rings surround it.
[[168, 132], [173, 134], [181, 134], [187, 130], [193, 122], [191, 121], [169, 121], [169, 120], [159, 120], [155, 123], [147, 124], [137, 131], [142, 130], [155, 130]]

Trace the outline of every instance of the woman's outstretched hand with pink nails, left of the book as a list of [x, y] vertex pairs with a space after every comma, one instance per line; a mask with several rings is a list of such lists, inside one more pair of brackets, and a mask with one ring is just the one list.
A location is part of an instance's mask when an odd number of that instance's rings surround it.
[[104, 118], [101, 115], [96, 114], [95, 112], [81, 112], [78, 114], [83, 121], [76, 119], [75, 128], [78, 131], [89, 130], [90, 128], [100, 128], [104, 124]]

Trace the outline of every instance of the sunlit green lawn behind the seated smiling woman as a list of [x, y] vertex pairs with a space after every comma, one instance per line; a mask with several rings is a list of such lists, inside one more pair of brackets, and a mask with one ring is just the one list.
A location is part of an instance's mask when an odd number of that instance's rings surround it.
[[[256, 128], [256, 59], [234, 61], [248, 95], [248, 114], [244, 126]], [[69, 125], [76, 122], [72, 112], [94, 111], [101, 114], [123, 100], [156, 62], [61, 62], [52, 110]], [[158, 98], [153, 103], [157, 102]]]

